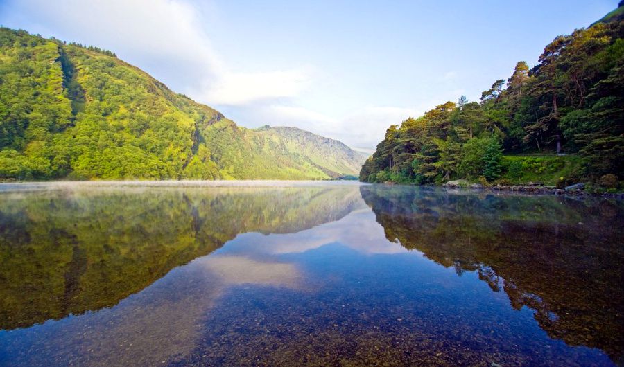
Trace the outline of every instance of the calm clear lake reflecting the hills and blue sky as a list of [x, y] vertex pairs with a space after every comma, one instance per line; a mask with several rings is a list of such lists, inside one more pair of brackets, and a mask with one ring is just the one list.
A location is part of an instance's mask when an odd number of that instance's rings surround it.
[[623, 227], [596, 198], [0, 185], [0, 365], [623, 364]]

